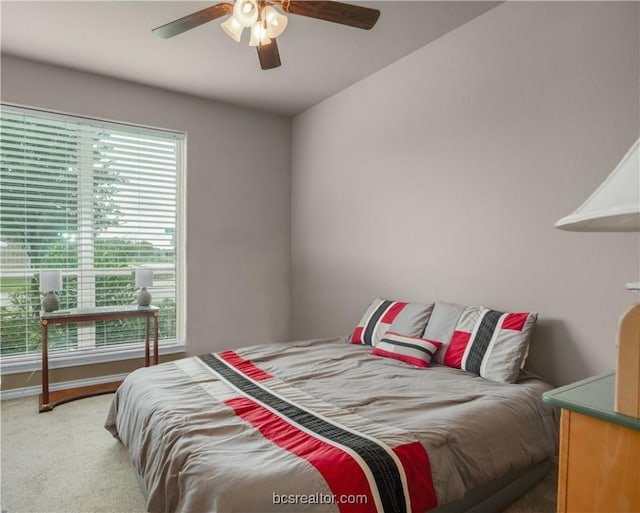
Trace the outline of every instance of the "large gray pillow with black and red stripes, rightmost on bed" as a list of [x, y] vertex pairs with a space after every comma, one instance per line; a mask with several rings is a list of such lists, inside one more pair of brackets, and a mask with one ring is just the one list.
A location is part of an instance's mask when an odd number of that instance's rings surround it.
[[505, 313], [437, 302], [424, 338], [442, 342], [435, 361], [499, 383], [515, 383], [529, 351], [536, 312]]

